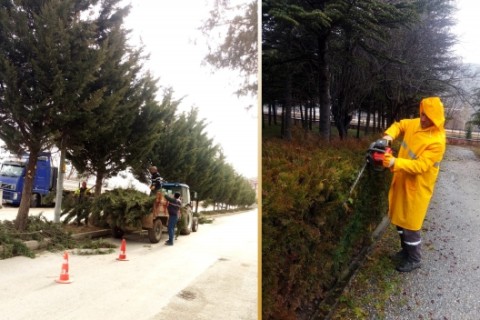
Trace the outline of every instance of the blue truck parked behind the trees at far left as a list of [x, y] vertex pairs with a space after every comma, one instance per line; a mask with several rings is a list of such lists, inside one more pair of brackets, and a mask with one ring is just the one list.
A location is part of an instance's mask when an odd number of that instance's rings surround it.
[[[14, 206], [20, 205], [23, 192], [28, 155], [21, 158], [7, 159], [0, 167], [0, 184], [3, 190], [3, 202]], [[40, 153], [37, 170], [33, 181], [31, 207], [51, 205], [55, 198], [58, 168], [52, 165], [50, 153]], [[51, 199], [50, 201], [48, 199]]]

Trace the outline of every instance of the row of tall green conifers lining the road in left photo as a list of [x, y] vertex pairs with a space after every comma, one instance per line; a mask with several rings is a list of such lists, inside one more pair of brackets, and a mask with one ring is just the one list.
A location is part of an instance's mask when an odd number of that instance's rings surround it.
[[[146, 181], [157, 165], [164, 178], [188, 183], [201, 199], [233, 205], [255, 201], [246, 179], [225, 162], [193, 109], [143, 67], [143, 48], [128, 44], [120, 0], [4, 1], [0, 5], [0, 138], [30, 154], [15, 226], [28, 217], [36, 159], [57, 146], [79, 172], [102, 181], [131, 167]], [[58, 198], [57, 198], [58, 199]], [[58, 202], [57, 202], [58, 203]]]

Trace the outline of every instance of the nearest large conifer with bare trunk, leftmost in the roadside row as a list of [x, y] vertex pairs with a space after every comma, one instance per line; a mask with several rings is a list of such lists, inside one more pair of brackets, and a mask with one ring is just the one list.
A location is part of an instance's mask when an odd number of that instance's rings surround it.
[[25, 229], [37, 155], [51, 147], [59, 126], [98, 104], [84, 94], [102, 59], [89, 41], [94, 24], [78, 17], [96, 1], [3, 1], [0, 6], [0, 138], [29, 152], [15, 220]]

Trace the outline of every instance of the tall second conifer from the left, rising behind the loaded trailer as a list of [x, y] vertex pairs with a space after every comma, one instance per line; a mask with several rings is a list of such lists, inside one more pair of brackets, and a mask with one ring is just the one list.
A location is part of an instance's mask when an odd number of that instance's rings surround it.
[[[105, 178], [138, 162], [159, 137], [161, 111], [155, 101], [156, 81], [142, 73], [142, 51], [127, 43], [122, 27], [128, 7], [104, 1], [97, 21], [96, 43], [105, 59], [95, 72], [90, 91], [101, 91], [99, 107], [83, 122], [68, 159], [80, 172], [95, 174], [95, 193]], [[95, 132], [95, 134], [91, 134]]]

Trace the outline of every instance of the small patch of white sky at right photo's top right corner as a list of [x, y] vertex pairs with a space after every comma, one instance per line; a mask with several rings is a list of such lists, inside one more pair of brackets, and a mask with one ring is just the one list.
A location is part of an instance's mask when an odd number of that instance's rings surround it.
[[480, 1], [456, 0], [457, 25], [454, 28], [459, 36], [457, 53], [465, 63], [480, 64]]

